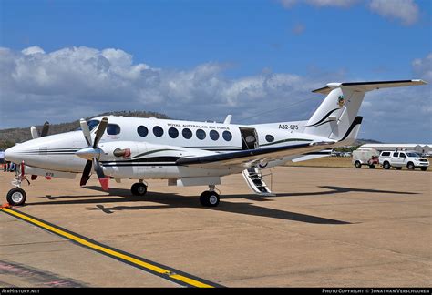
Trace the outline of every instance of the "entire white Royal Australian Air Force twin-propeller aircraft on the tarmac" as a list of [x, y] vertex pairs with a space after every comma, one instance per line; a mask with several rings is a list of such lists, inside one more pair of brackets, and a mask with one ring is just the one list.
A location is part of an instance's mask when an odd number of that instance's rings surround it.
[[[261, 170], [289, 160], [326, 156], [319, 153], [352, 143], [362, 123], [357, 113], [367, 91], [385, 87], [416, 86], [422, 80], [330, 83], [314, 90], [327, 95], [314, 115], [305, 121], [260, 125], [192, 122], [157, 118], [95, 117], [80, 120], [80, 130], [39, 137], [5, 151], [5, 159], [18, 164], [15, 188], [7, 193], [10, 205], [23, 205], [20, 188], [26, 174], [46, 178], [75, 178], [85, 186], [93, 170], [104, 190], [109, 178], [138, 179], [131, 192], [147, 192], [144, 179], [168, 179], [169, 186], [208, 186], [203, 206], [214, 207], [220, 196], [215, 186], [221, 177], [242, 173], [252, 191], [272, 195]], [[306, 154], [306, 155], [304, 155]]]

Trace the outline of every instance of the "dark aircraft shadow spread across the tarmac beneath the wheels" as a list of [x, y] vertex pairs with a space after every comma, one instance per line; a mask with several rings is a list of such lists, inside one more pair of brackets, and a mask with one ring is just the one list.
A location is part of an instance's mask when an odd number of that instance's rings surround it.
[[[112, 214], [115, 211], [122, 210], [144, 210], [144, 209], [170, 209], [170, 208], [201, 208], [201, 209], [211, 209], [224, 212], [231, 212], [236, 214], [245, 214], [258, 217], [266, 217], [272, 219], [285, 219], [292, 221], [300, 221], [305, 223], [314, 224], [333, 224], [333, 225], [343, 225], [352, 224], [351, 222], [336, 220], [336, 219], [326, 219], [317, 216], [295, 213], [289, 211], [283, 211], [279, 209], [269, 209], [260, 206], [255, 206], [252, 203], [247, 202], [228, 202], [227, 199], [232, 198], [245, 198], [252, 201], [272, 201], [272, 198], [280, 197], [308, 197], [308, 196], [325, 196], [334, 195], [337, 193], [347, 193], [347, 192], [365, 192], [365, 193], [380, 193], [380, 194], [401, 194], [401, 195], [411, 195], [417, 194], [412, 192], [401, 192], [401, 191], [388, 191], [388, 190], [376, 190], [376, 189], [363, 189], [363, 188], [342, 188], [342, 187], [331, 187], [323, 186], [319, 188], [325, 188], [328, 190], [318, 191], [318, 192], [303, 192], [303, 193], [283, 193], [277, 194], [274, 197], [261, 197], [256, 195], [224, 195], [220, 205], [216, 208], [203, 208], [197, 201], [197, 198], [183, 197], [175, 193], [159, 193], [159, 192], [148, 192], [144, 197], [131, 196], [130, 190], [126, 188], [110, 188], [109, 195], [106, 194], [101, 188], [96, 186], [86, 187], [87, 189], [97, 190], [103, 195], [82, 195], [82, 196], [46, 196], [40, 198], [48, 198], [49, 201], [36, 202], [28, 204], [29, 206], [34, 205], [62, 205], [62, 204], [97, 204], [92, 210], [101, 210], [104, 213]], [[96, 198], [98, 197], [98, 198]], [[117, 198], [116, 198], [117, 197]], [[67, 198], [67, 199], [64, 199]], [[71, 199], [73, 198], [73, 199]], [[114, 206], [106, 207], [100, 205], [100, 203], [119, 203], [119, 202], [154, 202], [160, 205], [143, 205], [143, 206]]]

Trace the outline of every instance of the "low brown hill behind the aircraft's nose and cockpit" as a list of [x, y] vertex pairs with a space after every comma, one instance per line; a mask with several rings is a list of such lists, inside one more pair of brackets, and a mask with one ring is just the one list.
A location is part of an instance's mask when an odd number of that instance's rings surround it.
[[[115, 111], [99, 114], [92, 117], [98, 116], [124, 116], [124, 117], [158, 117], [158, 118], [170, 118], [167, 115], [159, 114], [156, 112], [145, 112], [145, 111]], [[91, 117], [87, 117], [86, 119], [90, 119]], [[63, 132], [68, 132], [75, 130], [79, 127], [79, 120], [69, 122], [69, 123], [61, 123], [61, 124], [51, 124], [49, 126], [49, 135], [58, 134]], [[36, 126], [37, 130], [40, 132], [42, 129], [42, 125]], [[31, 139], [32, 136], [30, 134], [30, 127], [24, 128], [9, 128], [0, 130], [0, 149], [10, 148], [15, 145], [15, 143], [24, 142], [26, 140]]]

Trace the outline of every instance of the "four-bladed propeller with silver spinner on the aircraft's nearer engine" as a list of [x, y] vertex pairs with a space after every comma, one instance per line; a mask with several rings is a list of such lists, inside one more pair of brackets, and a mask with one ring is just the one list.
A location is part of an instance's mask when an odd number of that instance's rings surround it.
[[98, 130], [96, 131], [95, 139], [91, 140], [90, 130], [88, 129], [87, 121], [85, 119], [79, 120], [79, 125], [83, 131], [84, 138], [86, 138], [86, 142], [88, 147], [82, 148], [76, 152], [76, 155], [80, 158], [86, 158], [87, 163], [83, 170], [83, 175], [81, 177], [81, 181], [79, 182], [80, 186], [85, 186], [88, 179], [90, 179], [90, 172], [93, 166], [96, 174], [98, 175], [98, 179], [100, 185], [103, 190], [108, 190], [108, 181], [109, 178], [105, 177], [104, 170], [99, 163], [100, 154], [103, 153], [102, 149], [98, 147], [98, 143], [100, 138], [105, 133], [108, 125], [108, 118], [104, 117], [99, 123]]

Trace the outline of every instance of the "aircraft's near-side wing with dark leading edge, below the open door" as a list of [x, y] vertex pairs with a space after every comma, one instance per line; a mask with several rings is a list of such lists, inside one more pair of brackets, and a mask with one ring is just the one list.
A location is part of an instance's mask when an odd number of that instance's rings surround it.
[[242, 167], [249, 168], [260, 161], [272, 161], [283, 157], [302, 155], [303, 153], [331, 148], [334, 141], [315, 142], [276, 148], [248, 149], [238, 152], [214, 154], [201, 157], [180, 158], [177, 165], [198, 166], [201, 168], [227, 168]]

